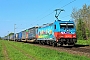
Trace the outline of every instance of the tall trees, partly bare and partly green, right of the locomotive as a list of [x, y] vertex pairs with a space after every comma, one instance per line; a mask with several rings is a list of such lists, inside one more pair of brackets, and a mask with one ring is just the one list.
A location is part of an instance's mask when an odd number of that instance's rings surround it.
[[84, 4], [81, 9], [73, 8], [71, 17], [74, 19], [78, 39], [90, 37], [90, 6]]

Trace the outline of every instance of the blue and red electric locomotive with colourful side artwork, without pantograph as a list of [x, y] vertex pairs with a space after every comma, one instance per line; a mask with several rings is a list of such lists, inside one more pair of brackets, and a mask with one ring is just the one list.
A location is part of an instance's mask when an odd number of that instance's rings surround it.
[[37, 29], [36, 38], [39, 43], [60, 46], [74, 45], [77, 42], [76, 29], [73, 21], [57, 20]]

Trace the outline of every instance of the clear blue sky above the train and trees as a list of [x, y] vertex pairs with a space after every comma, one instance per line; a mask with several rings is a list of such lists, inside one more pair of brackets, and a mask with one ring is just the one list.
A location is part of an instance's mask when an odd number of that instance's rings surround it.
[[57, 8], [65, 10], [59, 16], [61, 20], [70, 20], [73, 8], [90, 5], [89, 0], [75, 0], [68, 4], [71, 1], [73, 0], [0, 0], [0, 36], [7, 35], [8, 31], [14, 32], [14, 24], [15, 32], [18, 33], [33, 26], [54, 22], [54, 10]]

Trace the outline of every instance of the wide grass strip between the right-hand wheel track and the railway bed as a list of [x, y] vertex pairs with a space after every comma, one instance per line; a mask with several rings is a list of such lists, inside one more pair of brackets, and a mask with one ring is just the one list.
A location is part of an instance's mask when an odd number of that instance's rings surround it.
[[56, 50], [41, 48], [32, 44], [15, 42], [9, 43], [25, 50], [26, 52], [37, 58], [37, 60], [90, 60], [90, 58], [87, 58], [85, 56], [72, 55], [66, 52], [59, 52]]

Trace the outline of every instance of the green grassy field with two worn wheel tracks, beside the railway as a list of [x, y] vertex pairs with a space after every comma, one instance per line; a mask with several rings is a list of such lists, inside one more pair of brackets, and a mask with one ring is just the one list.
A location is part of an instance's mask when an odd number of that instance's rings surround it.
[[90, 60], [90, 58], [41, 48], [29, 43], [0, 40], [0, 60]]

